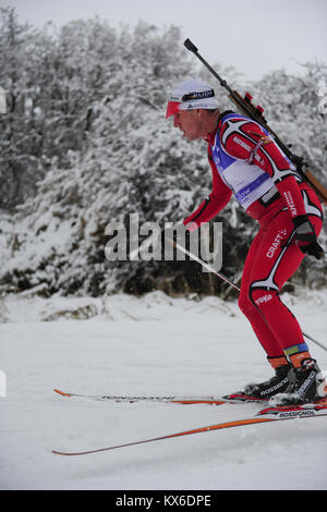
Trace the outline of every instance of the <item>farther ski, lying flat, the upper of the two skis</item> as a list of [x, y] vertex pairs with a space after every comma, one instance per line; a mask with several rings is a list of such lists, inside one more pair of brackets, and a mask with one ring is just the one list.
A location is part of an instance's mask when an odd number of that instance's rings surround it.
[[266, 402], [266, 400], [254, 399], [247, 394], [240, 392], [227, 394], [226, 397], [180, 397], [180, 395], [114, 395], [114, 394], [81, 394], [81, 393], [69, 393], [61, 391], [60, 389], [53, 389], [57, 394], [66, 398], [80, 398], [87, 400], [96, 400], [100, 402], [159, 402], [159, 403], [175, 403], [182, 405], [195, 405], [195, 404], [207, 404], [207, 405], [223, 405], [226, 403], [238, 403], [238, 402]]

